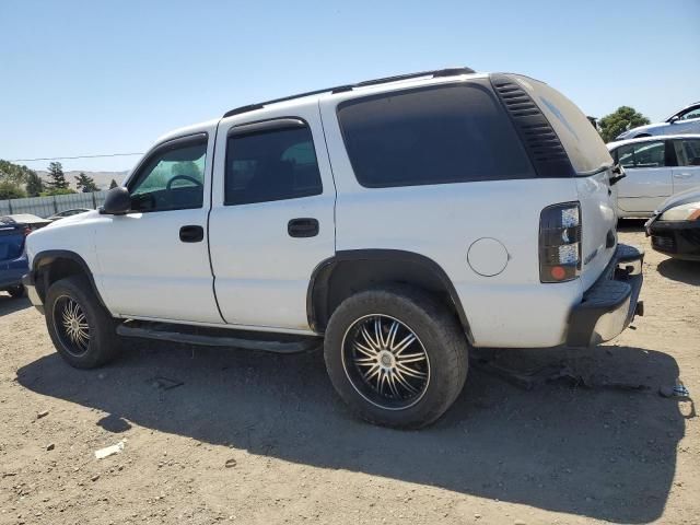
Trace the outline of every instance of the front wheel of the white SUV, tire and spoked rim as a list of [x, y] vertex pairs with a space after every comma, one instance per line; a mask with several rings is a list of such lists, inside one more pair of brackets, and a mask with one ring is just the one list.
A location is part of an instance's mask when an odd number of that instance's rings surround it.
[[116, 322], [100, 304], [86, 278], [72, 276], [51, 284], [45, 314], [56, 351], [71, 366], [94, 369], [117, 354]]

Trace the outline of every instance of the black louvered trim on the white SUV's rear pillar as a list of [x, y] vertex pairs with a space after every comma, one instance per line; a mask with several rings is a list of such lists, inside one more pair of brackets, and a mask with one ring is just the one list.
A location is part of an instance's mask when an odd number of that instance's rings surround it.
[[521, 138], [537, 176], [574, 177], [576, 173], [559, 136], [529, 94], [509, 74], [493, 73], [489, 79]]

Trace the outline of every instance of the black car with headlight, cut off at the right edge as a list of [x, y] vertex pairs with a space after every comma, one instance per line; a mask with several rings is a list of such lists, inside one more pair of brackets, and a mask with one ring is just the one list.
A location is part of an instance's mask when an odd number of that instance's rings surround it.
[[700, 260], [700, 188], [667, 199], [644, 226], [655, 250]]

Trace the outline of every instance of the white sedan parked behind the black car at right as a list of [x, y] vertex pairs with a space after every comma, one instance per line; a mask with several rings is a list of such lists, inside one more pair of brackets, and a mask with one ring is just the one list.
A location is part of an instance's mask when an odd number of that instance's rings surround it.
[[618, 217], [646, 218], [673, 195], [700, 187], [700, 135], [610, 142], [626, 177], [614, 186]]

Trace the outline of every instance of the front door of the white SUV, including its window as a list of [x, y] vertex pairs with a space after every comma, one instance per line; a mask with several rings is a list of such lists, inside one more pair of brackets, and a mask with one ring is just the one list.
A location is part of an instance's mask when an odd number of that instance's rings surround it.
[[161, 144], [129, 179], [132, 211], [98, 220], [96, 278], [113, 313], [223, 324], [207, 250], [210, 158], [205, 132]]

